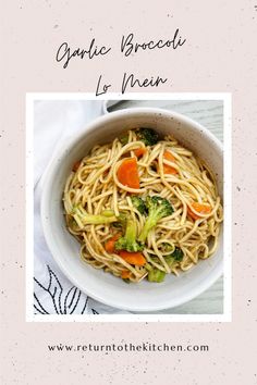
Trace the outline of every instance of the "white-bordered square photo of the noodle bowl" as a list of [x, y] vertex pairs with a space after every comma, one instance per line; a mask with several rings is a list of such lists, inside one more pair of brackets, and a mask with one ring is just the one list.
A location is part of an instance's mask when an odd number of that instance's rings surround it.
[[27, 94], [27, 321], [231, 321], [230, 120], [228, 94]]

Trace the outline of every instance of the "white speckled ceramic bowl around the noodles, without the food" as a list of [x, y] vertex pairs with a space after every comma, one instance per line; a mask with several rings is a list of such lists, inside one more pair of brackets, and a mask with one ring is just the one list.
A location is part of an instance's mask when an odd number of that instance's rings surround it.
[[63, 273], [88, 296], [112, 307], [150, 312], [182, 305], [211, 286], [222, 273], [223, 238], [208, 260], [203, 260], [179, 277], [168, 275], [163, 283], [126, 284], [112, 274], [96, 270], [81, 261], [79, 245], [68, 232], [63, 218], [62, 195], [68, 175], [77, 159], [96, 144], [107, 142], [128, 128], [152, 127], [172, 134], [186, 148], [204, 159], [216, 173], [222, 197], [222, 145], [198, 123], [174, 112], [137, 108], [101, 116], [65, 144], [45, 175], [41, 197], [41, 220], [49, 249]]

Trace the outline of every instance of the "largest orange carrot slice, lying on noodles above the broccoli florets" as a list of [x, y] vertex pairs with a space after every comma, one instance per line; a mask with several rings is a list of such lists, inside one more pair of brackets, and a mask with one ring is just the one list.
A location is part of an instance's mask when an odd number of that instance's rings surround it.
[[131, 188], [139, 188], [139, 175], [137, 170], [137, 161], [135, 158], [124, 159], [118, 169], [117, 176], [119, 182]]

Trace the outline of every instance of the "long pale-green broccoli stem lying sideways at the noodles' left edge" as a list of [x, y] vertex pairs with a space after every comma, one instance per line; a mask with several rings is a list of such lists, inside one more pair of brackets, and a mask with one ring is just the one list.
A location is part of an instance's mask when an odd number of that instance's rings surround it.
[[94, 215], [88, 214], [86, 210], [82, 207], [82, 204], [75, 206], [71, 213], [76, 221], [77, 225], [82, 228], [87, 224], [109, 224], [112, 222], [117, 222], [118, 219], [114, 215], [114, 212], [111, 211], [103, 211], [101, 214]]

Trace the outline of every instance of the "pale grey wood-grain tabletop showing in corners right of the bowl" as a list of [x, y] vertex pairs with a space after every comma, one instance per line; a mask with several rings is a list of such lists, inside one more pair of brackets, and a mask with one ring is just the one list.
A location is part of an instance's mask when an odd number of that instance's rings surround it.
[[[223, 141], [223, 103], [220, 100], [124, 100], [111, 110], [133, 107], [158, 107], [183, 113], [203, 124]], [[223, 280], [219, 278], [208, 290], [180, 307], [159, 311], [164, 314], [223, 313]]]

